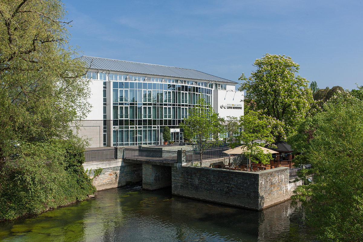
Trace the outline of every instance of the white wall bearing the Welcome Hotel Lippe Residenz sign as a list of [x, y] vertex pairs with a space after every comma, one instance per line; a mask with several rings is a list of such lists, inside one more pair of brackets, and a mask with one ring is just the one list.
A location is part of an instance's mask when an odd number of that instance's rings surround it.
[[[213, 90], [213, 109], [220, 117], [239, 117], [244, 114], [244, 92], [234, 90]], [[221, 105], [223, 106], [221, 107]]]

